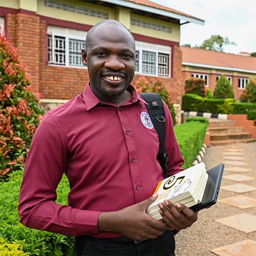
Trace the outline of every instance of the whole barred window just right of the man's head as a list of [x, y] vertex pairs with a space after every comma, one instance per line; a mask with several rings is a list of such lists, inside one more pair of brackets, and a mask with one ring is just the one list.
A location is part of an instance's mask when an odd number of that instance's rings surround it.
[[171, 47], [135, 41], [138, 53], [135, 72], [170, 77]]

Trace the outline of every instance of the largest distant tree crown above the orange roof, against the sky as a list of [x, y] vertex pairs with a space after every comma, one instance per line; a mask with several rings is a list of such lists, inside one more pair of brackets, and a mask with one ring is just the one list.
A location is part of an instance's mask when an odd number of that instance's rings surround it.
[[201, 46], [195, 45], [193, 48], [207, 49], [209, 51], [224, 52], [225, 46], [236, 46], [235, 42], [231, 42], [227, 37], [222, 38], [221, 35], [212, 35], [209, 39], [204, 40]]

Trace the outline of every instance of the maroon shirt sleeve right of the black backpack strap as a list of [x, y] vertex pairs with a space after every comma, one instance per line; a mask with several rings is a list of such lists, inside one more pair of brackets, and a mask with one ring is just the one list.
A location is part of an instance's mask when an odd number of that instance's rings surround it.
[[165, 113], [165, 149], [168, 154], [168, 175], [177, 174], [180, 171], [183, 171], [184, 168], [181, 166], [184, 163], [184, 159], [181, 156], [180, 148], [177, 143], [175, 134], [174, 134], [174, 125], [172, 123], [172, 116], [168, 106], [164, 103], [164, 113]]

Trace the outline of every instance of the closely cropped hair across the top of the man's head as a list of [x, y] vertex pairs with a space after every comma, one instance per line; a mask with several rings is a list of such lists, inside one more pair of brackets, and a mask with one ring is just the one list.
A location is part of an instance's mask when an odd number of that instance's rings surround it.
[[[119, 28], [122, 28], [123, 31], [126, 31], [127, 34], [130, 35], [133, 43], [134, 43], [134, 51], [135, 51], [135, 41], [134, 41], [134, 37], [133, 35], [131, 34], [131, 32], [120, 22], [118, 22], [117, 20], [114, 20], [114, 19], [106, 19], [106, 20], [102, 20], [101, 22], [98, 22], [97, 24], [95, 24], [87, 33], [86, 35], [86, 40], [85, 40], [85, 49], [87, 50], [90, 43], [92, 42], [93, 40], [93, 34], [94, 34], [94, 31], [97, 30], [98, 27], [101, 27], [101, 26], [108, 26], [108, 25], [111, 25], [111, 26], [117, 26]], [[114, 31], [106, 31], [106, 33], [108, 32], [111, 32], [111, 33], [114, 33]]]

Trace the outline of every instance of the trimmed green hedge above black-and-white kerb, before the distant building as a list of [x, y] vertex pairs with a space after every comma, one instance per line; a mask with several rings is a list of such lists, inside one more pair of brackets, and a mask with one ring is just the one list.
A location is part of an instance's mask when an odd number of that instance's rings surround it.
[[[221, 105], [232, 106], [232, 108], [225, 108], [226, 112], [229, 112], [229, 109], [232, 110], [231, 113], [223, 113], [221, 111]], [[214, 113], [214, 114], [248, 114], [251, 110], [256, 110], [256, 104], [254, 103], [234, 103], [229, 101], [229, 99], [207, 99], [200, 97], [197, 94], [184, 94], [182, 97], [182, 110], [185, 111], [195, 111], [195, 112], [207, 112], [207, 113]]]

